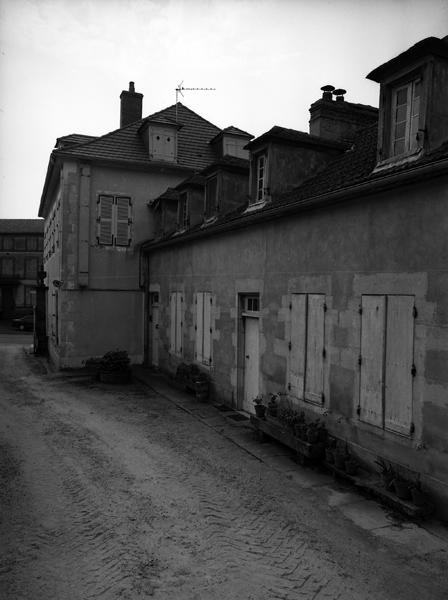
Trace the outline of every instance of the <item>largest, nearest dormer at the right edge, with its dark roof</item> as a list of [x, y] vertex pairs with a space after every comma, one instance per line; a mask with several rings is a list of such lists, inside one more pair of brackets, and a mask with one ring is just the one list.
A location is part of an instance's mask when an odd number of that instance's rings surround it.
[[417, 160], [448, 139], [448, 36], [418, 42], [367, 78], [381, 86], [376, 170]]

